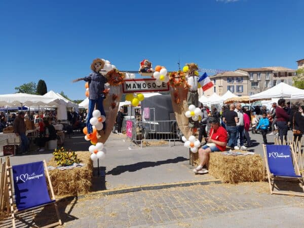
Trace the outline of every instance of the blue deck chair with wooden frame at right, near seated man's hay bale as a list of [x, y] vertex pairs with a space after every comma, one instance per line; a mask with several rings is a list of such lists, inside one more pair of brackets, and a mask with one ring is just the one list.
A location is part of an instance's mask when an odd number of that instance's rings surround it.
[[[300, 175], [293, 147], [290, 145], [263, 145], [263, 150], [270, 193], [304, 197], [304, 182]], [[278, 179], [298, 179], [302, 185], [303, 193], [275, 191], [275, 180]]]

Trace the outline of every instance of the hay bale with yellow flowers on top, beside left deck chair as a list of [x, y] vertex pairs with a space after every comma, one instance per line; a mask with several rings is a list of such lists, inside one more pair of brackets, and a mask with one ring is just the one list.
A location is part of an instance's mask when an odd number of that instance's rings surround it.
[[[86, 164], [81, 168], [67, 170], [50, 170], [51, 182], [56, 196], [79, 195], [88, 193], [93, 181], [93, 162], [89, 151], [77, 151], [77, 157], [81, 163]], [[48, 166], [56, 167], [54, 157], [48, 162]]]

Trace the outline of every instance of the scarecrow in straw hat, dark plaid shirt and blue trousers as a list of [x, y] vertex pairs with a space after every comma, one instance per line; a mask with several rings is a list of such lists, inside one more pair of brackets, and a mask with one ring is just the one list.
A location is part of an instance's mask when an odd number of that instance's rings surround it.
[[[100, 111], [101, 115], [105, 116], [103, 109], [103, 99], [105, 99], [104, 94], [104, 84], [107, 82], [107, 79], [99, 73], [103, 69], [105, 62], [99, 58], [94, 59], [91, 64], [91, 69], [93, 70], [85, 78], [75, 79], [73, 82], [86, 81], [89, 82], [89, 113], [87, 118], [87, 129], [88, 134], [93, 132], [92, 125], [90, 124], [90, 119], [93, 117], [93, 111], [95, 104], [97, 103], [97, 108]], [[103, 124], [103, 130], [105, 129], [105, 124]]]

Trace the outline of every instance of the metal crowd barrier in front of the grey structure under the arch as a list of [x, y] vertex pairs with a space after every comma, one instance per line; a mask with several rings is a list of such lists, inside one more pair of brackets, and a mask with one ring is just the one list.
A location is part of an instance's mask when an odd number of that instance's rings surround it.
[[178, 128], [176, 121], [144, 121], [136, 122], [128, 120], [126, 124], [127, 137], [129, 137], [136, 144], [140, 143], [142, 147], [143, 141], [181, 141], [182, 133]]

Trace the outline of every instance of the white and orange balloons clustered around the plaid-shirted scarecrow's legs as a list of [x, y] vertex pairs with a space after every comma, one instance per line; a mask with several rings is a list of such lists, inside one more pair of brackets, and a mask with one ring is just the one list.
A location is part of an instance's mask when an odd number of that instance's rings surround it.
[[91, 143], [93, 145], [97, 143], [97, 131], [103, 129], [103, 122], [105, 122], [105, 116], [101, 115], [99, 110], [94, 110], [93, 117], [90, 119], [90, 124], [93, 127], [93, 132], [88, 133], [87, 127], [83, 129], [83, 133], [85, 134], [85, 139], [87, 141], [91, 140]]

